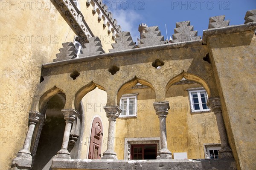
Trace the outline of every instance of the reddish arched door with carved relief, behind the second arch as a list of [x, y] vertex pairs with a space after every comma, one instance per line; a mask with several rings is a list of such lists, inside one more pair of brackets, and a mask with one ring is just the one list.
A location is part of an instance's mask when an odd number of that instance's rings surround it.
[[97, 117], [93, 120], [91, 136], [90, 136], [90, 148], [88, 159], [100, 159], [101, 147], [102, 147], [102, 121]]

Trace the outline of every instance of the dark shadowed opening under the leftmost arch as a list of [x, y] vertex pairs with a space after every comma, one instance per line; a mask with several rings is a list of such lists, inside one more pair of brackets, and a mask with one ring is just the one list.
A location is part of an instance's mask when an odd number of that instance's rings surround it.
[[34, 158], [33, 170], [49, 170], [52, 165], [52, 158], [61, 149], [66, 125], [61, 109], [64, 108], [65, 102], [65, 95], [62, 93], [52, 96], [47, 102], [44, 125]]

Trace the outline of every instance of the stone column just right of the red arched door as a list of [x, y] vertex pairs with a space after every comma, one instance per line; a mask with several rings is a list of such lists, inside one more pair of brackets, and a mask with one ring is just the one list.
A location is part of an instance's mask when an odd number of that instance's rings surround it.
[[108, 145], [107, 150], [103, 153], [102, 159], [117, 159], [116, 153], [114, 152], [114, 137], [116, 118], [122, 112], [118, 106], [105, 106], [104, 107], [108, 117]]

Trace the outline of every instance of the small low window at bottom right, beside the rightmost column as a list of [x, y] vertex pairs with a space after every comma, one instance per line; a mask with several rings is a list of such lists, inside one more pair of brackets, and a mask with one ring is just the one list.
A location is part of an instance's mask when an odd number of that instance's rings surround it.
[[204, 144], [204, 156], [207, 159], [217, 159], [219, 158], [219, 150], [221, 149], [221, 144]]

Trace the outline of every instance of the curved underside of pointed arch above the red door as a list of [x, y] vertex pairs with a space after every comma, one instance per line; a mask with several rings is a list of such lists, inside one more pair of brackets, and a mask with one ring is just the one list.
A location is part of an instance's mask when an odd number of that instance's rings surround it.
[[84, 95], [86, 95], [90, 91], [93, 91], [94, 89], [96, 89], [96, 87], [98, 87], [101, 90], [106, 91], [103, 86], [100, 86], [99, 84], [95, 84], [93, 81], [91, 81], [89, 84], [83, 86], [81, 89], [79, 89], [79, 91], [76, 92], [76, 95], [75, 95], [75, 108], [76, 109], [79, 108], [80, 101], [82, 100]]

